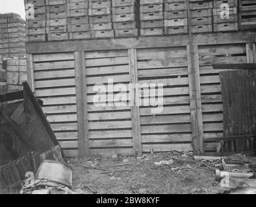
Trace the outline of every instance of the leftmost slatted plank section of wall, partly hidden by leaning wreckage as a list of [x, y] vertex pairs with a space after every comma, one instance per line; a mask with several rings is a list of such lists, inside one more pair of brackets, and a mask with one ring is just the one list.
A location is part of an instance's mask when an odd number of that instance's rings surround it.
[[73, 53], [33, 56], [34, 91], [67, 156], [77, 155], [77, 105]]

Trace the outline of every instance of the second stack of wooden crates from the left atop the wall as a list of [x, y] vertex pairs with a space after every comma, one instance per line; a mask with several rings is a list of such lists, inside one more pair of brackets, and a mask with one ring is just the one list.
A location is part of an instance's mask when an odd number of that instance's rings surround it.
[[46, 0], [46, 32], [50, 41], [68, 40], [66, 0]]

